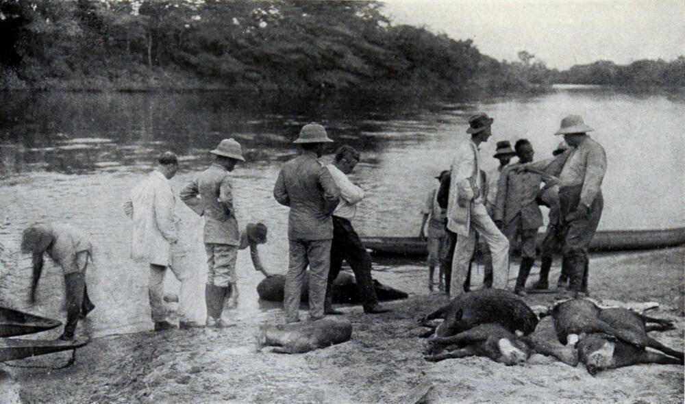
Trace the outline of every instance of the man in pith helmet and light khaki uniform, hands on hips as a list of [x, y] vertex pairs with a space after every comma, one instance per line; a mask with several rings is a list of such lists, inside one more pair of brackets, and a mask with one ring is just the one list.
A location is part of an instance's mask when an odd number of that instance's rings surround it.
[[240, 247], [240, 230], [233, 206], [231, 175], [238, 161], [244, 162], [242, 148], [236, 140], [221, 140], [210, 151], [214, 162], [180, 192], [181, 200], [195, 213], [205, 217], [203, 239], [207, 253], [208, 327], [225, 327], [221, 321], [223, 303], [237, 292], [236, 258]]

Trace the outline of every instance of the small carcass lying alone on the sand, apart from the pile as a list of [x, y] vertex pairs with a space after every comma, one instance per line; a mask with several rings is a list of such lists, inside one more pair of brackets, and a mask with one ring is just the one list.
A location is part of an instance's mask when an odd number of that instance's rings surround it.
[[278, 346], [274, 352], [304, 353], [348, 341], [351, 335], [349, 320], [325, 317], [306, 323], [262, 325], [258, 343], [260, 348]]

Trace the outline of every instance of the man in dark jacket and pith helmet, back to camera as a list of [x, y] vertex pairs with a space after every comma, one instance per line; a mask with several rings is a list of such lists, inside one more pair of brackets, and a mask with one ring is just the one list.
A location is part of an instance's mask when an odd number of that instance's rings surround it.
[[295, 142], [299, 156], [287, 162], [278, 175], [273, 197], [290, 207], [288, 214], [289, 262], [284, 290], [286, 323], [299, 321], [302, 280], [309, 265], [309, 318], [323, 318], [326, 281], [331, 262], [333, 221], [331, 215], [340, 201], [340, 191], [331, 174], [317, 160], [323, 145], [333, 142], [323, 126], [302, 127]]

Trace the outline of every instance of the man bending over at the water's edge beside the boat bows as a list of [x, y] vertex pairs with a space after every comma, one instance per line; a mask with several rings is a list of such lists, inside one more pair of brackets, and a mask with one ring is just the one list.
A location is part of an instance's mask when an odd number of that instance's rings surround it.
[[34, 224], [21, 235], [21, 251], [33, 255], [33, 278], [31, 302], [36, 302], [36, 288], [42, 273], [43, 254], [47, 253], [64, 273], [66, 297], [66, 325], [60, 340], [73, 340], [76, 325], [81, 318], [95, 309], [88, 299], [86, 268], [88, 258], [92, 262], [92, 245], [84, 232], [70, 225], [60, 223]]

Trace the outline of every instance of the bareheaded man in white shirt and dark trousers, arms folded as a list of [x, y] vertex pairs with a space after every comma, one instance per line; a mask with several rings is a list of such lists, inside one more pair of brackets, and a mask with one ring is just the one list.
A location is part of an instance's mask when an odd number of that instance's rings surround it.
[[364, 199], [362, 188], [352, 184], [347, 175], [359, 162], [359, 152], [353, 147], [343, 146], [336, 152], [328, 171], [340, 190], [340, 203], [333, 212], [333, 241], [331, 244], [331, 268], [328, 273], [324, 314], [342, 314], [333, 308], [333, 281], [340, 273], [343, 260], [347, 261], [354, 272], [359, 295], [362, 298], [364, 313], [383, 313], [378, 305], [376, 290], [371, 280], [371, 255], [364, 248], [350, 219], [357, 213], [356, 204]]

